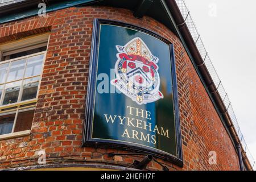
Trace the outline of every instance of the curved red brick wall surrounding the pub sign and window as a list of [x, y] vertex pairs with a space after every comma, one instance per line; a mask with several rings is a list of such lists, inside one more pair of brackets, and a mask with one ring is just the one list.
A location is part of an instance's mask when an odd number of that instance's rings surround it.
[[[184, 167], [160, 159], [159, 162], [171, 170], [238, 170], [232, 142], [180, 40], [152, 18], [136, 19], [129, 10], [110, 7], [69, 8], [48, 13], [46, 17], [34, 16], [0, 25], [0, 43], [51, 31], [31, 135], [0, 140], [1, 168], [15, 167], [18, 163], [37, 164], [38, 150], [46, 151], [47, 164], [60, 156], [86, 157], [87, 163], [112, 165], [132, 164], [134, 159], [141, 159], [109, 158], [106, 154], [115, 150], [81, 147], [93, 18], [148, 28], [174, 43]], [[209, 151], [217, 152], [216, 165], [208, 163]], [[149, 168], [162, 169], [155, 162]]]

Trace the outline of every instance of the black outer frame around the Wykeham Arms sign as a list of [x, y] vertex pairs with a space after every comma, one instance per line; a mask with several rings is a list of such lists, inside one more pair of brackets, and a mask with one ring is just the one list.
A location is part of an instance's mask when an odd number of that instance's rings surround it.
[[[134, 30], [144, 32], [148, 35], [158, 38], [164, 43], [170, 45], [171, 53], [171, 71], [172, 71], [172, 89], [174, 94], [174, 112], [175, 112], [175, 133], [176, 133], [176, 144], [177, 144], [177, 156], [169, 155], [164, 151], [155, 150], [154, 148], [149, 148], [146, 146], [140, 146], [139, 144], [126, 143], [123, 141], [111, 141], [106, 139], [93, 139], [91, 138], [92, 134], [92, 121], [94, 113], [94, 100], [96, 93], [96, 79], [97, 79], [97, 55], [98, 55], [98, 44], [100, 42], [100, 25], [109, 24], [114, 26], [121, 26], [125, 28], [133, 28]], [[183, 167], [183, 153], [182, 153], [182, 143], [181, 143], [181, 132], [180, 132], [180, 115], [179, 115], [179, 103], [178, 103], [178, 94], [177, 94], [177, 78], [176, 78], [176, 68], [175, 68], [175, 54], [174, 54], [174, 45], [169, 42], [167, 39], [164, 39], [162, 36], [159, 36], [155, 32], [134, 26], [133, 24], [127, 24], [115, 20], [107, 19], [97, 19], [93, 21], [93, 34], [92, 34], [92, 47], [90, 54], [90, 67], [89, 67], [89, 80], [86, 96], [86, 109], [85, 109], [85, 122], [84, 122], [84, 131], [82, 136], [82, 146], [90, 147], [103, 147], [103, 148], [115, 148], [126, 151], [140, 152], [143, 154], [151, 154], [158, 158], [168, 160], [176, 164], [177, 166]], [[135, 153], [136, 155], [136, 153]]]

